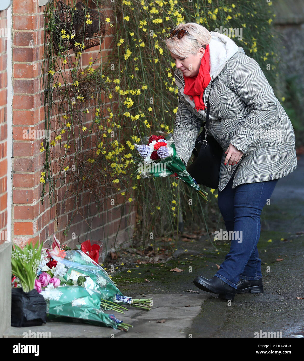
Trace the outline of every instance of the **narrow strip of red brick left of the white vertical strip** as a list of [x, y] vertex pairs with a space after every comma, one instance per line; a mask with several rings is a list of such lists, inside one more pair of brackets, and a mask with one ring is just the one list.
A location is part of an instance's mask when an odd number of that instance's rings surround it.
[[[7, 10], [0, 11], [0, 244], [7, 239]], [[4, 31], [5, 30], [5, 31]], [[3, 36], [4, 35], [4, 36]]]

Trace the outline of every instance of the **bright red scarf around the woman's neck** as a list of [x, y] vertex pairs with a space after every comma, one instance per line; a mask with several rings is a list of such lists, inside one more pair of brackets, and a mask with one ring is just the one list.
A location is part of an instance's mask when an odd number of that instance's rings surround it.
[[209, 44], [206, 46], [204, 56], [201, 58], [199, 73], [195, 77], [185, 77], [184, 75], [184, 94], [190, 95], [190, 100], [194, 100], [197, 111], [206, 108], [203, 102], [204, 89], [208, 86], [210, 78], [209, 64]]

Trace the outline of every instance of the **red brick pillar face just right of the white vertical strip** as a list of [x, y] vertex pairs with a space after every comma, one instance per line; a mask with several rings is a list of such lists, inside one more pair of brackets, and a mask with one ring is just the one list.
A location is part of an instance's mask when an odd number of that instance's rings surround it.
[[[44, 129], [41, 74], [44, 6], [38, 1], [13, 2], [13, 241], [18, 245], [40, 240], [39, 183], [43, 160], [41, 139], [24, 138], [23, 131]], [[37, 201], [38, 200], [38, 201]]]

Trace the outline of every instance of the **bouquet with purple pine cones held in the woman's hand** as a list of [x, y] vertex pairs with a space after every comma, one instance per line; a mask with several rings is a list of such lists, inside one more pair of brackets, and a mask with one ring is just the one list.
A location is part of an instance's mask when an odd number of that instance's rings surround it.
[[[162, 135], [151, 135], [145, 137], [147, 144], [134, 144], [139, 155], [143, 158], [144, 164], [139, 166], [138, 172], [142, 178], [167, 177], [174, 173], [177, 178], [185, 182], [189, 187], [194, 188], [207, 202], [208, 193], [201, 190], [199, 184], [187, 172], [181, 158], [177, 155], [172, 133], [161, 132]], [[142, 163], [139, 163], [142, 165]]]

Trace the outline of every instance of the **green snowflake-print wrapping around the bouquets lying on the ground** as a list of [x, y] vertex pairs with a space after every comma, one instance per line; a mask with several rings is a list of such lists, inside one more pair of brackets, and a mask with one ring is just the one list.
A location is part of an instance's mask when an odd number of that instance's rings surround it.
[[86, 281], [82, 286], [47, 287], [41, 292], [47, 301], [49, 319], [80, 318], [94, 325], [117, 329], [118, 324], [101, 308], [101, 299], [122, 304], [116, 300], [116, 295], [123, 295], [107, 272], [79, 249], [64, 251], [60, 255], [52, 254], [52, 258], [67, 269], [63, 279], [77, 282], [79, 276], [84, 276]]

